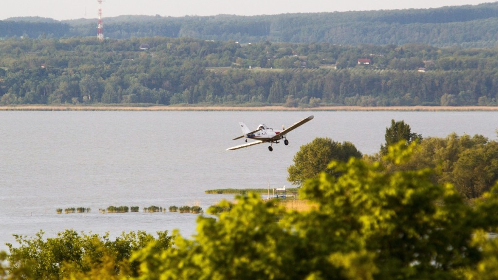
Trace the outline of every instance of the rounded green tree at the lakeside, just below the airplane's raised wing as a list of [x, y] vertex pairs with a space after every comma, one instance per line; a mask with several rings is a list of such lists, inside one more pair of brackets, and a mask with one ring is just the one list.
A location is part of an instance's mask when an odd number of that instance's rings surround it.
[[348, 161], [350, 157], [362, 157], [362, 153], [351, 142], [343, 143], [330, 138], [315, 138], [302, 145], [292, 159], [294, 164], [287, 167], [287, 180], [293, 185], [302, 186], [310, 178], [327, 169], [331, 160]]

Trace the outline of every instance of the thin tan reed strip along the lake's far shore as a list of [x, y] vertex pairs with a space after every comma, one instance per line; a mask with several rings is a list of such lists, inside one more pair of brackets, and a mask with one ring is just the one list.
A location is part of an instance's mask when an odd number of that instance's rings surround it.
[[10, 105], [0, 111], [498, 111], [498, 106], [322, 106], [289, 108], [283, 106], [83, 106], [83, 105]]

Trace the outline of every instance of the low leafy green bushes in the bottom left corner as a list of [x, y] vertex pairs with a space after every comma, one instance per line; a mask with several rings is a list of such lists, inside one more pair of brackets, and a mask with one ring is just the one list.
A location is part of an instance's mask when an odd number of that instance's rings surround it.
[[15, 236], [19, 247], [7, 244], [10, 254], [4, 255], [3, 259], [10, 266], [4, 268], [0, 264], [0, 277], [4, 271], [4, 278], [0, 279], [121, 279], [137, 276], [138, 264], [129, 261], [133, 252], [146, 246], [164, 250], [172, 245], [172, 237], [167, 235], [167, 231], [157, 232], [157, 238], [143, 231], [123, 233], [114, 241], [109, 234], [79, 234], [74, 230], [47, 239], [43, 234], [40, 231], [33, 238]]

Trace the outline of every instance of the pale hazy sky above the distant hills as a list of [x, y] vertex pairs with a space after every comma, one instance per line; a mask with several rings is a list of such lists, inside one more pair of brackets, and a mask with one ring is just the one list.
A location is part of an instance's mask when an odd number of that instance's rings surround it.
[[[279, 14], [430, 8], [479, 4], [490, 0], [104, 0], [103, 16], [145, 14], [162, 16], [216, 14]], [[2, 0], [0, 19], [13, 16], [41, 16], [55, 19], [97, 18], [97, 0]]]

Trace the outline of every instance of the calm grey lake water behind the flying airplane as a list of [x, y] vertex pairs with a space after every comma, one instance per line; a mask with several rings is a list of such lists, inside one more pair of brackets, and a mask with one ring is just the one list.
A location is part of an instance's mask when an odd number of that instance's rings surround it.
[[[290, 126], [289, 145], [235, 151], [244, 143], [238, 122], [255, 129]], [[195, 214], [101, 214], [108, 206], [199, 205], [232, 195], [217, 188], [290, 186], [287, 167], [299, 147], [316, 137], [351, 141], [377, 152], [390, 120], [404, 120], [423, 137], [455, 132], [496, 140], [496, 112], [0, 112], [0, 250], [12, 234], [45, 237], [64, 229], [112, 237], [123, 231], [179, 229], [195, 234]], [[90, 207], [90, 213], [56, 214]]]

